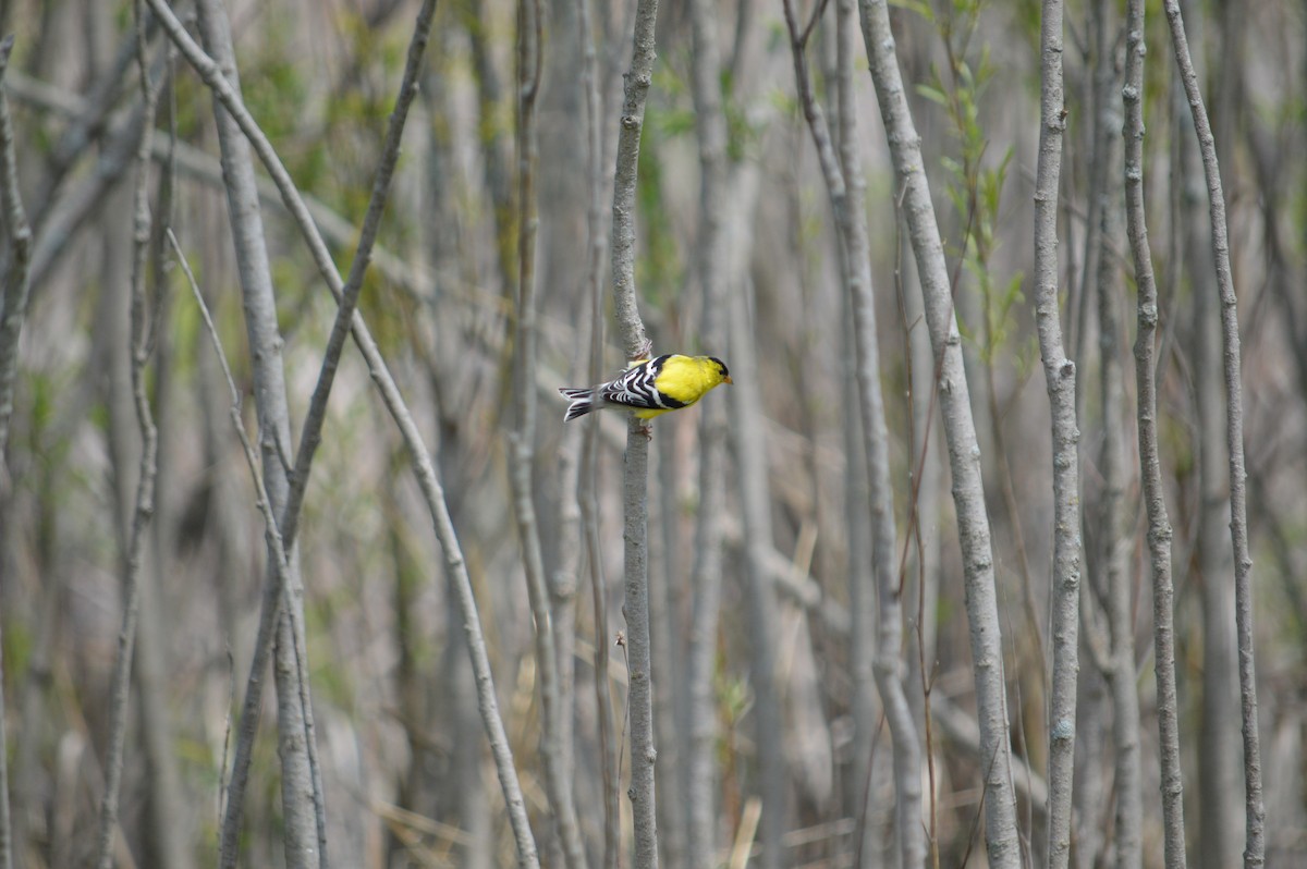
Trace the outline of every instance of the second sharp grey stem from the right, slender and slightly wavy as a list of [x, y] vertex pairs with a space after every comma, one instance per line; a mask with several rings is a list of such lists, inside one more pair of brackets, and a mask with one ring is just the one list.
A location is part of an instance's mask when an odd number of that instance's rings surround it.
[[1179, 706], [1175, 691], [1175, 629], [1171, 584], [1171, 521], [1162, 486], [1157, 442], [1157, 281], [1144, 214], [1144, 0], [1128, 0], [1125, 12], [1125, 225], [1134, 257], [1138, 327], [1134, 378], [1138, 389], [1140, 473], [1148, 511], [1153, 572], [1153, 666], [1157, 672], [1157, 721], [1162, 764], [1162, 825], [1167, 869], [1183, 869], [1184, 781], [1180, 776]]

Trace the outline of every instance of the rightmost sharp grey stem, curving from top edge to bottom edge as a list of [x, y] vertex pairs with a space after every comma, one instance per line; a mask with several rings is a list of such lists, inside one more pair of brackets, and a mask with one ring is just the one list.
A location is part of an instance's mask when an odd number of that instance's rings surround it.
[[1252, 632], [1252, 553], [1248, 550], [1248, 495], [1243, 448], [1243, 385], [1239, 352], [1239, 299], [1230, 269], [1230, 234], [1226, 226], [1225, 191], [1221, 187], [1221, 165], [1217, 161], [1216, 137], [1202, 102], [1199, 76], [1189, 56], [1184, 18], [1178, 0], [1163, 4], [1171, 25], [1175, 61], [1180, 81], [1189, 99], [1193, 129], [1202, 154], [1202, 172], [1208, 180], [1209, 216], [1212, 220], [1212, 252], [1216, 259], [1217, 291], [1221, 294], [1221, 344], [1226, 382], [1226, 438], [1230, 450], [1230, 538], [1234, 544], [1234, 618], [1239, 639], [1239, 699], [1243, 720], [1244, 827], [1247, 840], [1244, 866], [1266, 862], [1266, 808], [1261, 796], [1261, 738], [1257, 732], [1257, 668]]

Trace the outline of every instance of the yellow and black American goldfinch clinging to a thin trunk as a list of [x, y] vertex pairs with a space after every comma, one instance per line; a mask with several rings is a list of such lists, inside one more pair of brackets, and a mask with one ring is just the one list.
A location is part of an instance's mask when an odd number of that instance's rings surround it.
[[626, 408], [640, 419], [652, 419], [668, 410], [689, 408], [719, 383], [731, 383], [731, 372], [721, 359], [668, 353], [640, 359], [616, 380], [597, 387], [562, 387], [558, 391], [571, 401], [563, 422], [600, 408]]

